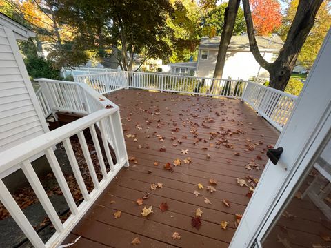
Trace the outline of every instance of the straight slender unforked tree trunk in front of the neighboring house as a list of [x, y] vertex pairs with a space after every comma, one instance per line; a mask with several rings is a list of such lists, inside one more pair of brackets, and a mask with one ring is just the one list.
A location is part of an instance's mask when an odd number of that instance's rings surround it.
[[[237, 12], [239, 8], [240, 0], [229, 0], [228, 7], [225, 8], [224, 24], [221, 33], [221, 41], [219, 43], [219, 52], [217, 54], [217, 61], [215, 65], [214, 78], [221, 79], [225, 64], [225, 56], [230, 44], [232, 32], [234, 29], [234, 23], [236, 21]], [[214, 82], [212, 83], [212, 89], [214, 89]], [[216, 89], [214, 89], [216, 90]]]

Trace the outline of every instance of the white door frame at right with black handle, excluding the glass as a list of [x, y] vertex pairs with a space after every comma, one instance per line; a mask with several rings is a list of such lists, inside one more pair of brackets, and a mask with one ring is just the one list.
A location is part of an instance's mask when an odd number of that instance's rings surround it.
[[268, 161], [265, 166], [230, 248], [253, 247], [257, 237], [265, 234], [330, 132], [330, 36], [331, 30], [276, 143], [276, 147], [284, 147], [284, 152], [277, 165]]

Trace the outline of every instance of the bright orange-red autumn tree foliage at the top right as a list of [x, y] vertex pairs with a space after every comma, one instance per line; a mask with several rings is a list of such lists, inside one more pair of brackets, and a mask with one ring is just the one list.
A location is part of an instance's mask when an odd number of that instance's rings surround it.
[[276, 0], [250, 0], [257, 35], [268, 35], [281, 26], [281, 6]]

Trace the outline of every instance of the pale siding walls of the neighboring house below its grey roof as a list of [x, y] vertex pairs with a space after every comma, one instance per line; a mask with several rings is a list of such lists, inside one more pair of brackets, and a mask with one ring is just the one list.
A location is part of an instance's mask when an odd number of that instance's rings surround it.
[[[218, 50], [208, 50], [208, 59], [205, 60], [200, 58], [200, 51], [201, 50], [199, 50], [197, 75], [212, 77], [214, 75]], [[272, 52], [265, 52], [264, 58], [267, 61], [270, 61], [272, 59]], [[222, 76], [223, 79], [228, 79], [230, 76], [232, 79], [248, 80], [252, 78], [252, 76], [257, 76], [258, 72], [260, 77], [269, 76], [264, 68], [260, 68], [259, 63], [255, 61], [254, 56], [250, 51], [227, 52]]]

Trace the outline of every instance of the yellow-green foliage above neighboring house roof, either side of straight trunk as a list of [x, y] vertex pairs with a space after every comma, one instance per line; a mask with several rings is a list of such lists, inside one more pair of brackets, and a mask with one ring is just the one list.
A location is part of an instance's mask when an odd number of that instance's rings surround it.
[[[202, 33], [205, 36], [221, 35], [224, 25], [225, 9], [228, 3], [221, 3], [216, 8], [211, 8], [202, 19], [203, 30]], [[245, 17], [243, 16], [243, 10], [238, 8], [237, 18], [234, 22], [233, 35], [240, 35], [246, 31]]]

